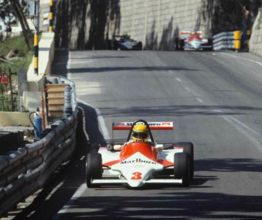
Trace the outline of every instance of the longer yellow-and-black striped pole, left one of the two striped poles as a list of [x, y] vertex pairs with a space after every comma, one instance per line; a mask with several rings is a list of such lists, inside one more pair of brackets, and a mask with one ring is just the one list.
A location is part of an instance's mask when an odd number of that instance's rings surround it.
[[39, 54], [39, 0], [34, 0], [34, 74], [38, 75]]

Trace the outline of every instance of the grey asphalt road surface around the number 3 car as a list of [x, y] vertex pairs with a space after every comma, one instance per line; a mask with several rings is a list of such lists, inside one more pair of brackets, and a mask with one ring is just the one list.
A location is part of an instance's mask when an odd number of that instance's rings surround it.
[[[83, 118], [77, 152], [20, 218], [261, 219], [261, 58], [235, 52], [74, 51], [57, 55], [56, 65], [67, 65], [77, 87]], [[191, 186], [86, 188], [90, 142], [110, 142], [112, 122], [140, 118], [174, 122], [174, 131], [153, 131], [157, 142], [194, 143]], [[127, 135], [115, 131], [114, 140]]]

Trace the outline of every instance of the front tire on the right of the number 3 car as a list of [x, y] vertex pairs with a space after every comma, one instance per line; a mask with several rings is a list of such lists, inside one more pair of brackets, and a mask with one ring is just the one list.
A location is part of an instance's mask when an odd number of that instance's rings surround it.
[[182, 186], [189, 186], [190, 165], [188, 153], [174, 154], [174, 179], [182, 179]]

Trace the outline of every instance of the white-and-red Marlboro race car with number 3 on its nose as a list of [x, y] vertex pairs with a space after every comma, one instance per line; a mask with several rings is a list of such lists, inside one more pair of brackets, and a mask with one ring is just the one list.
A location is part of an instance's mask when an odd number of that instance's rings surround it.
[[[130, 141], [134, 125], [145, 124], [148, 142]], [[145, 184], [188, 187], [194, 176], [194, 146], [191, 142], [154, 142], [151, 130], [173, 130], [173, 122], [114, 122], [114, 130], [130, 130], [125, 144], [109, 143], [88, 153], [85, 179], [88, 188], [121, 184], [139, 188]]]

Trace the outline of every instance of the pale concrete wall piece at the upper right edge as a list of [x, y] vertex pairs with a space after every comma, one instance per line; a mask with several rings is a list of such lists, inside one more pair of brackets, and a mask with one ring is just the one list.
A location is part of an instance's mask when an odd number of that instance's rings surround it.
[[250, 38], [250, 52], [262, 56], [262, 8], [254, 21], [252, 35]]

